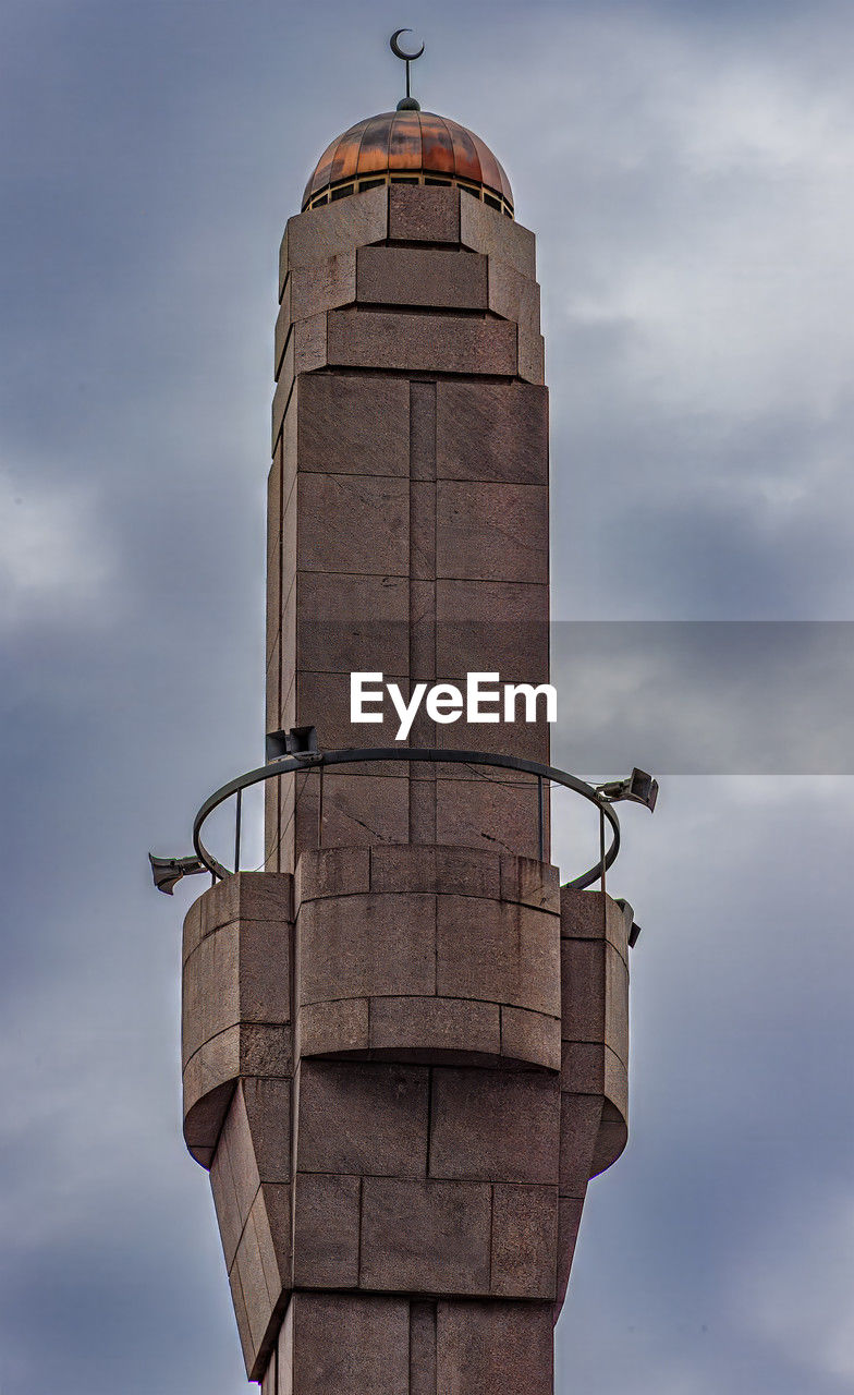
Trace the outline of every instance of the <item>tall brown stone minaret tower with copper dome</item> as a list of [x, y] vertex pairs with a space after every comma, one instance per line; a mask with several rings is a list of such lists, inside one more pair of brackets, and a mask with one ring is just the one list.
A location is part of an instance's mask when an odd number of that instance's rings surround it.
[[[412, 106], [361, 121], [287, 223], [279, 297], [268, 730], [394, 748], [388, 702], [352, 723], [353, 672], [546, 682], [534, 237], [495, 158]], [[541, 707], [435, 711], [403, 745], [548, 763]], [[184, 1134], [247, 1373], [551, 1395], [586, 1186], [627, 1138], [627, 918], [561, 889], [523, 770], [308, 759], [265, 790], [267, 870], [184, 925]]]

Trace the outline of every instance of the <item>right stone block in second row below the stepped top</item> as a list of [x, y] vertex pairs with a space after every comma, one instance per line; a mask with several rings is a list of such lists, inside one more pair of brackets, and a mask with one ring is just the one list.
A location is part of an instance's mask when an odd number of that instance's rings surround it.
[[548, 491], [539, 484], [440, 480], [437, 578], [548, 582]]

